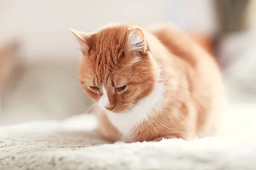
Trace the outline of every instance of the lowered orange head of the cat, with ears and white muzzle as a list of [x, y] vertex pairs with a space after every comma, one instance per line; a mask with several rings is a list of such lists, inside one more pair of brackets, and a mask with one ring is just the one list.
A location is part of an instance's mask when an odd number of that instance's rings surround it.
[[140, 29], [105, 28], [94, 34], [71, 30], [83, 57], [79, 73], [84, 91], [105, 111], [124, 113], [154, 88], [154, 69]]

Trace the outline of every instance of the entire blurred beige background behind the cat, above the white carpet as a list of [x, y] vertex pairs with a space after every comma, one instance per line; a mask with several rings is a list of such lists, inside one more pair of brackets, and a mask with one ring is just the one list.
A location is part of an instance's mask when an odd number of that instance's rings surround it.
[[86, 112], [69, 28], [115, 22], [175, 23], [219, 62], [228, 112], [256, 113], [256, 0], [0, 0], [0, 125]]

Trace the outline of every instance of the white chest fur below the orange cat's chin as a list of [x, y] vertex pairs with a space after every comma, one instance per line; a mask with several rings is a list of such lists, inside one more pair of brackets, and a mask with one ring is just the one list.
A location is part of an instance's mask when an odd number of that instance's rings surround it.
[[132, 142], [131, 133], [150, 115], [152, 115], [152, 109], [158, 110], [163, 102], [164, 86], [157, 84], [154, 90], [144, 99], [141, 99], [134, 109], [129, 113], [113, 113], [105, 110], [109, 121], [114, 127], [122, 134], [123, 142]]

